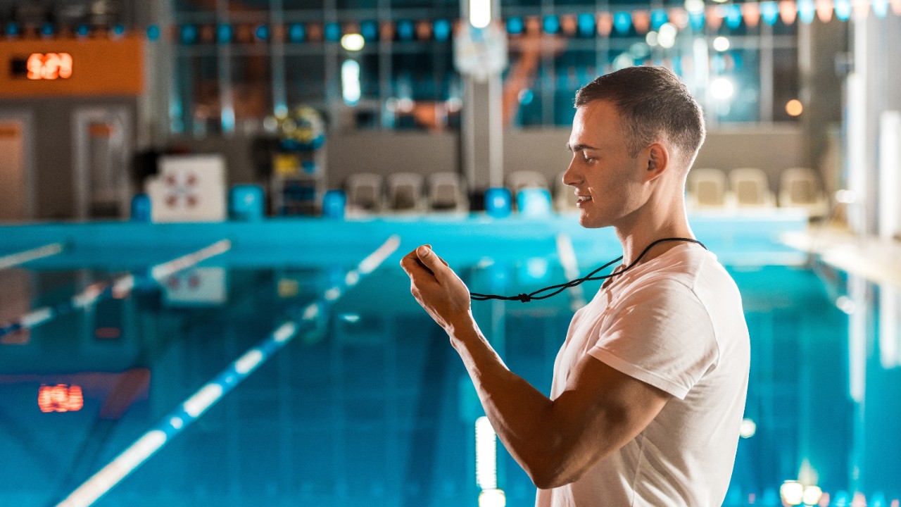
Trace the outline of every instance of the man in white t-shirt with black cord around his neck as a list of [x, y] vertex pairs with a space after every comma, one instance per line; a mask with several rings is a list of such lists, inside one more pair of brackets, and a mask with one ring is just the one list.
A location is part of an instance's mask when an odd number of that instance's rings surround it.
[[401, 261], [451, 337], [506, 449], [545, 506], [714, 506], [732, 475], [750, 346], [737, 288], [692, 238], [688, 169], [700, 107], [669, 70], [633, 67], [576, 95], [563, 182], [579, 223], [613, 226], [628, 271], [569, 326], [551, 397], [511, 373], [472, 318], [469, 290], [431, 246]]

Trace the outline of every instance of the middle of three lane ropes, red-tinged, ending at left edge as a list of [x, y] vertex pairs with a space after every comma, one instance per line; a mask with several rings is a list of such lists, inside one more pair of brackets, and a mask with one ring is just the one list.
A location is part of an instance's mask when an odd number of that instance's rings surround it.
[[[232, 242], [227, 239], [223, 239], [217, 241], [214, 244], [206, 246], [205, 248], [201, 248], [193, 253], [187, 253], [187, 255], [182, 255], [176, 259], [168, 261], [166, 263], [159, 263], [152, 268], [150, 268], [150, 278], [152, 278], [157, 283], [164, 281], [168, 276], [186, 270], [191, 266], [195, 266], [198, 263], [202, 263], [206, 259], [213, 257], [215, 255], [219, 255], [220, 253], [228, 252], [232, 248]], [[39, 326], [44, 322], [52, 318], [57, 318], [60, 315], [85, 309], [105, 297], [114, 297], [114, 298], [124, 298], [128, 296], [137, 280], [133, 274], [126, 274], [120, 276], [113, 281], [101, 281], [97, 283], [93, 283], [85, 290], [82, 290], [75, 296], [72, 296], [68, 301], [64, 301], [55, 306], [47, 306], [41, 307], [39, 309], [33, 309], [32, 311], [26, 313], [18, 320], [14, 321], [12, 324], [7, 324], [6, 326], [0, 327], [0, 337], [8, 335], [10, 333], [14, 333], [19, 329], [30, 329], [35, 326]]]

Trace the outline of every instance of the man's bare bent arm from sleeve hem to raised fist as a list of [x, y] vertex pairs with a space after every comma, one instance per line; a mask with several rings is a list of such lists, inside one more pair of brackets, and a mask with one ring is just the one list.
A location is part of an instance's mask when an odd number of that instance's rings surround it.
[[577, 480], [635, 438], [669, 399], [587, 356], [565, 391], [550, 400], [510, 372], [487, 343], [472, 318], [469, 290], [447, 263], [421, 247], [401, 265], [416, 300], [451, 337], [497, 436], [536, 486]]

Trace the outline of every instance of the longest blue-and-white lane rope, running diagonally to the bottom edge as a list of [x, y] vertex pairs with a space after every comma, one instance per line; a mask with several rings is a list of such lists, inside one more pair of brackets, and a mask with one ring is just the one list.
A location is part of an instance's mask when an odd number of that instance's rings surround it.
[[323, 291], [322, 297], [314, 300], [301, 310], [300, 322], [287, 320], [276, 327], [258, 345], [250, 347], [244, 354], [226, 366], [213, 380], [205, 383], [194, 394], [183, 401], [175, 410], [159, 420], [156, 426], [135, 440], [131, 446], [116, 456], [108, 465], [88, 478], [75, 491], [59, 502], [57, 507], [87, 507], [113, 489], [126, 476], [143, 465], [150, 456], [166, 445], [192, 422], [201, 417], [223, 396], [265, 363], [269, 357], [286, 346], [298, 335], [301, 326], [312, 325], [327, 311], [332, 301], [356, 285], [363, 276], [375, 271], [389, 255], [400, 246], [400, 237], [392, 235], [387, 241], [363, 259], [356, 268], [350, 270], [339, 284]]

